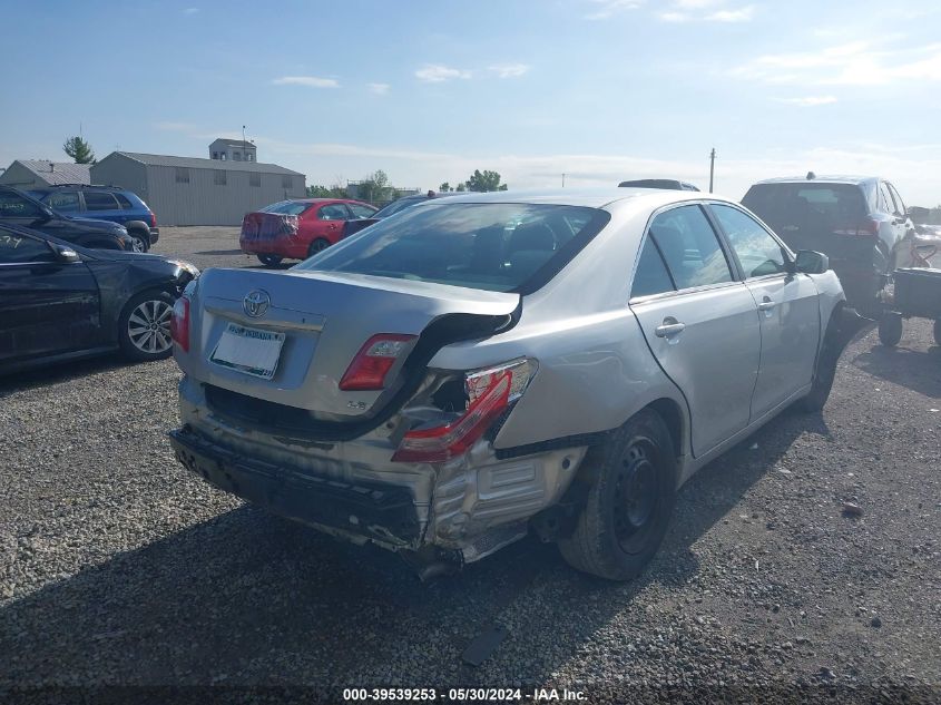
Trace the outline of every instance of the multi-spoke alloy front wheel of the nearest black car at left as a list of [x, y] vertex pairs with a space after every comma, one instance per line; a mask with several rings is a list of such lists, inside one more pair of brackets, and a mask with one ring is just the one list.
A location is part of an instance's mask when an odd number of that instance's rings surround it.
[[118, 343], [129, 360], [148, 362], [173, 354], [170, 317], [174, 297], [161, 291], [131, 296], [118, 317]]

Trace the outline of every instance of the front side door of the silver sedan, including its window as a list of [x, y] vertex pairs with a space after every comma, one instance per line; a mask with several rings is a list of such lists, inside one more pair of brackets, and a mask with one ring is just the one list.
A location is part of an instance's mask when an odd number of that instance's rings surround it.
[[787, 272], [781, 243], [744, 210], [710, 204], [754, 296], [762, 331], [762, 360], [752, 420], [773, 410], [813, 380], [820, 342], [817, 288], [806, 274]]

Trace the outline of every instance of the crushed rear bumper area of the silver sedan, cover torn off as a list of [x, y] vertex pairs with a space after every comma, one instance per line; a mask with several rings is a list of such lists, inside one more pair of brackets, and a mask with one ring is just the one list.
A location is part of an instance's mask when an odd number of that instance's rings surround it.
[[215, 487], [337, 538], [471, 562], [521, 538], [568, 489], [585, 447], [547, 444], [499, 458], [488, 441], [444, 463], [393, 462], [385, 424], [344, 442], [273, 432], [216, 408], [206, 385], [179, 384], [177, 459]]

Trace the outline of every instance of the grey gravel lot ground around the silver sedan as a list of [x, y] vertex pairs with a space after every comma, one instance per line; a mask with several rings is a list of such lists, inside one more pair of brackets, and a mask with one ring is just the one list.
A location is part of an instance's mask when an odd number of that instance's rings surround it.
[[[155, 252], [255, 264], [236, 228], [165, 227]], [[855, 341], [822, 415], [785, 413], [699, 472], [628, 585], [531, 539], [423, 585], [245, 506], [174, 461], [178, 378], [104, 359], [0, 379], [0, 699], [480, 684], [941, 701], [941, 350], [923, 321], [895, 350]], [[491, 626], [502, 643], [463, 664]]]

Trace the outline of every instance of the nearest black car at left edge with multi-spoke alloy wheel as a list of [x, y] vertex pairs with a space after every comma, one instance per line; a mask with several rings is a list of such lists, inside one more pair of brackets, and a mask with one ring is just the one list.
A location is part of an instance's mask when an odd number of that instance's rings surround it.
[[174, 303], [198, 275], [185, 262], [0, 224], [0, 374], [115, 350], [168, 358]]

